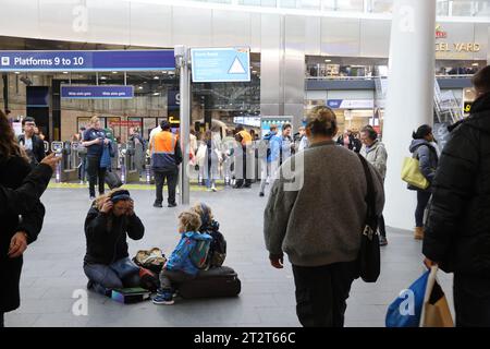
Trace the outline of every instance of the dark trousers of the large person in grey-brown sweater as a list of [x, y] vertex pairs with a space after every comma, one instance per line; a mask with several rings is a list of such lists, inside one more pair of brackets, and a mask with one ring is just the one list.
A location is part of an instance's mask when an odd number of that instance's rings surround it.
[[356, 262], [304, 267], [293, 265], [296, 314], [305, 327], [343, 327]]

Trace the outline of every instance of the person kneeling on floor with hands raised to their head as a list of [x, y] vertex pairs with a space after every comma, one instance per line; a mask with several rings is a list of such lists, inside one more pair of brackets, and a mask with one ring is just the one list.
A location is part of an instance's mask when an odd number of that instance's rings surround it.
[[94, 201], [85, 219], [87, 288], [109, 294], [112, 289], [138, 287], [139, 267], [128, 257], [126, 239], [140, 240], [144, 233], [127, 190], [115, 189]]

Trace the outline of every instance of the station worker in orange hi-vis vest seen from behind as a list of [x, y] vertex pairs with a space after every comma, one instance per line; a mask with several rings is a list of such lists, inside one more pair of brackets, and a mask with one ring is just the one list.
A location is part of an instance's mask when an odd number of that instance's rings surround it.
[[155, 183], [157, 186], [157, 197], [154, 206], [162, 207], [163, 183], [167, 179], [169, 207], [175, 207], [175, 190], [179, 179], [179, 165], [182, 163], [182, 149], [177, 136], [170, 132], [170, 123], [162, 121], [160, 127], [161, 132], [152, 136], [149, 145], [151, 169], [155, 173]]

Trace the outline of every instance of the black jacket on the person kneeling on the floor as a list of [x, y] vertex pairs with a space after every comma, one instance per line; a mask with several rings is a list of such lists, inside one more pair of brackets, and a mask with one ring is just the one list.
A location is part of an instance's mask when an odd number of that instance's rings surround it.
[[145, 227], [136, 215], [115, 217], [91, 207], [85, 219], [87, 253], [84, 261], [109, 265], [127, 257], [127, 237], [139, 240], [144, 233]]

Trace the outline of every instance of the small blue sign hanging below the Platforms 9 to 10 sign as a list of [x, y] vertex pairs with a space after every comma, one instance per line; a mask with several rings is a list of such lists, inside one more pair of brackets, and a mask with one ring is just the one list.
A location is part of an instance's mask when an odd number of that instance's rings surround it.
[[61, 86], [61, 98], [73, 99], [130, 99], [134, 97], [133, 86], [99, 85], [99, 86]]

